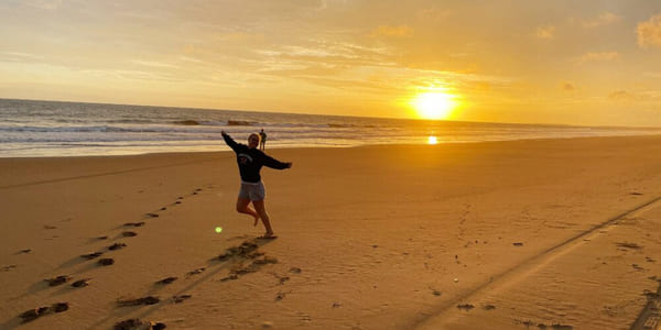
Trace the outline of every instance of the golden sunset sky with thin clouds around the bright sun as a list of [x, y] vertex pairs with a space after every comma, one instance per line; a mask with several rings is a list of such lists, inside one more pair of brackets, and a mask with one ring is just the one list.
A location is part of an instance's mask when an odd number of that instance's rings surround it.
[[661, 127], [659, 0], [2, 0], [0, 97]]

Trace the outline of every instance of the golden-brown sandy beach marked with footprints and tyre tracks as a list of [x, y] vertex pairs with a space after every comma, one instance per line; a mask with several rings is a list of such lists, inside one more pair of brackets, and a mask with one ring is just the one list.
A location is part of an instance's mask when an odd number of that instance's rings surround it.
[[0, 328], [659, 329], [661, 136], [269, 153], [273, 241], [230, 152], [0, 158]]

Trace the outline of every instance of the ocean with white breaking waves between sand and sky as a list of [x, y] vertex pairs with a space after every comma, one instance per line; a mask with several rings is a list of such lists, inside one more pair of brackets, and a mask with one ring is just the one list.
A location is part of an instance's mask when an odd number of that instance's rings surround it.
[[225, 130], [267, 150], [370, 144], [470, 143], [661, 134], [650, 128], [589, 128], [0, 99], [0, 157], [131, 155], [229, 150]]

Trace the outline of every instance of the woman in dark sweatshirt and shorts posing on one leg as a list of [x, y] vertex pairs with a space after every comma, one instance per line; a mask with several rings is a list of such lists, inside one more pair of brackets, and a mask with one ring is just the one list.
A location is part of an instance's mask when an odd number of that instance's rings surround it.
[[[262, 220], [267, 232], [262, 238], [274, 239], [271, 219], [267, 213], [264, 205], [266, 189], [261, 182], [259, 172], [262, 166], [286, 169], [292, 167], [292, 163], [282, 163], [277, 161], [257, 148], [260, 139], [258, 134], [248, 136], [248, 145], [235, 142], [225, 131], [220, 131], [225, 143], [237, 154], [237, 164], [239, 165], [239, 175], [241, 176], [241, 188], [237, 198], [237, 212], [250, 215], [254, 218], [253, 226]], [[249, 205], [252, 201], [254, 210]]]

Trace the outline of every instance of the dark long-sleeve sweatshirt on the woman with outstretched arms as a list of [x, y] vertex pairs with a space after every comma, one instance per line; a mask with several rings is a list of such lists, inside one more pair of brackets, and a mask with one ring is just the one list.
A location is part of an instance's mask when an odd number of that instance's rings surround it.
[[285, 169], [289, 164], [277, 161], [258, 148], [250, 148], [246, 144], [237, 143], [229, 135], [224, 134], [225, 143], [237, 154], [237, 164], [239, 165], [239, 174], [241, 180], [246, 183], [259, 183], [261, 176], [259, 172], [262, 166]]

